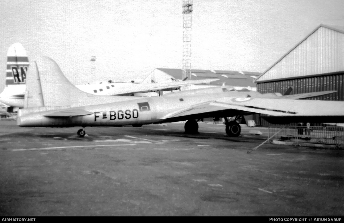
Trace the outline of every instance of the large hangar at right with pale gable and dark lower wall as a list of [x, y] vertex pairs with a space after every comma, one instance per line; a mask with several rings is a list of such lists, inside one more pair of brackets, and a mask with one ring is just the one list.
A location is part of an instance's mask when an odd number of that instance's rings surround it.
[[[312, 100], [344, 101], [344, 31], [320, 24], [257, 77], [257, 91], [291, 94], [337, 91]], [[257, 125], [271, 125], [257, 115]], [[321, 123], [321, 120], [319, 121]]]

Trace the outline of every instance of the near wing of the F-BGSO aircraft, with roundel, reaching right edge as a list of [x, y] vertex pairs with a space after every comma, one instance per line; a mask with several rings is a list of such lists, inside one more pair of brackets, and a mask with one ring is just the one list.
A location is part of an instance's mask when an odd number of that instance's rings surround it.
[[161, 119], [192, 115], [196, 116], [207, 113], [224, 113], [234, 115], [260, 113], [279, 117], [341, 116], [343, 115], [343, 110], [344, 102], [277, 98], [223, 97], [211, 102], [174, 111], [165, 115]]

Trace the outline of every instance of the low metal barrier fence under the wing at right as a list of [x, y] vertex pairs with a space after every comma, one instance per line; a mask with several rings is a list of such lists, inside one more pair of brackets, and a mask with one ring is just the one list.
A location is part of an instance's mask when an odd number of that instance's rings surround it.
[[[332, 145], [334, 148], [344, 146], [344, 127], [339, 126], [270, 126], [269, 140], [293, 142], [294, 145], [314, 146]], [[275, 141], [274, 141], [275, 140]], [[320, 147], [320, 146], [319, 146]]]

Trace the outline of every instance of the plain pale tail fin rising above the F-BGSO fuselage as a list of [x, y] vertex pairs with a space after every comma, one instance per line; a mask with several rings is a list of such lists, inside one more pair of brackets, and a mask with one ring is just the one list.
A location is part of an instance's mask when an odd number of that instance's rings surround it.
[[24, 108], [79, 107], [135, 99], [130, 96], [100, 96], [83, 92], [68, 81], [53, 59], [46, 56], [34, 61], [27, 80]]

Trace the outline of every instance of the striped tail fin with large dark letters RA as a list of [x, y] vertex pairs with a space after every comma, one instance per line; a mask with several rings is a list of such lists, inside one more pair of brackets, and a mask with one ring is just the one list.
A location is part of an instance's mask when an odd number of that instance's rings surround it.
[[22, 44], [14, 43], [7, 52], [6, 86], [25, 84], [29, 59]]

